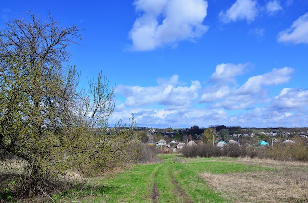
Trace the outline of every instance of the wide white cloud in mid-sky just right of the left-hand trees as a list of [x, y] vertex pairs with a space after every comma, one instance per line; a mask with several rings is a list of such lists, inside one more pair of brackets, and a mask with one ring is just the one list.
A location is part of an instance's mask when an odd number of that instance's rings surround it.
[[166, 105], [169, 109], [179, 109], [189, 106], [192, 100], [198, 97], [201, 88], [199, 81], [191, 81], [190, 86], [179, 86], [178, 75], [173, 75], [169, 80], [158, 86], [140, 87], [118, 85], [115, 92], [126, 97], [125, 106], [144, 106], [152, 103]]

